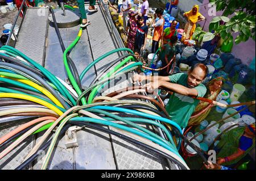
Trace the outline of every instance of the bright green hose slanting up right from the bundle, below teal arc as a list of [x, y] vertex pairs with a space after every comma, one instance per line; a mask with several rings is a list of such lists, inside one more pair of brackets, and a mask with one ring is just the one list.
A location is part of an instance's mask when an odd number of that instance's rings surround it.
[[[110, 75], [112, 75], [113, 73], [115, 73], [115, 71], [117, 71], [118, 69], [120, 69], [123, 65], [125, 65], [128, 61], [130, 61], [131, 59], [134, 60], [134, 57], [133, 56], [129, 56], [127, 58], [125, 58], [125, 60], [123, 60], [121, 63], [119, 63], [117, 66], [115, 66], [115, 68], [113, 70], [111, 70], [108, 74], [106, 74], [102, 79], [105, 79], [105, 78], [109, 78]], [[92, 92], [90, 93], [89, 95], [89, 98], [88, 98], [88, 104], [92, 104], [92, 101], [93, 101], [93, 98], [94, 96], [97, 94], [98, 92], [98, 89], [100, 89], [101, 86], [97, 86], [95, 87]]]

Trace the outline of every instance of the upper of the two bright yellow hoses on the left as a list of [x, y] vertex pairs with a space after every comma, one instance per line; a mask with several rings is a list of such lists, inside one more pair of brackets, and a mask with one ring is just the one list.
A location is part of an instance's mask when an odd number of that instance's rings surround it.
[[18, 79], [18, 78], [12, 78], [12, 77], [7, 77], [2, 75], [1, 77], [3, 78], [9, 78], [12, 79], [14, 81], [18, 81], [18, 82], [22, 82], [25, 83], [26, 85], [29, 85], [31, 87], [34, 87], [35, 89], [39, 90], [40, 92], [42, 92], [44, 95], [46, 95], [49, 99], [52, 100], [53, 103], [55, 103], [57, 106], [64, 108], [63, 105], [59, 102], [59, 100], [57, 100], [55, 98], [55, 96], [52, 95], [51, 92], [49, 92], [47, 89], [45, 89], [42, 86], [39, 86], [38, 84], [36, 84], [35, 82], [29, 81], [29, 80], [24, 80], [24, 79]]

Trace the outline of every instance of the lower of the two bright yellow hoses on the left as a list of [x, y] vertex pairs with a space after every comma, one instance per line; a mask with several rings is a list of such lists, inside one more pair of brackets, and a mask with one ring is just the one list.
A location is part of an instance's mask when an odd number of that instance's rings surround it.
[[32, 102], [48, 107], [50, 110], [56, 112], [60, 116], [63, 115], [63, 112], [60, 111], [57, 107], [53, 106], [52, 104], [29, 95], [16, 94], [16, 93], [0, 93], [0, 98], [16, 98], [16, 99], [30, 100]]

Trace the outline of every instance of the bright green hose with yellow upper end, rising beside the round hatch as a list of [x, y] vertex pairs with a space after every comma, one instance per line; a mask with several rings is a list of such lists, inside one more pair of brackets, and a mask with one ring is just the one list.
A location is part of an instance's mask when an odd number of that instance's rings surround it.
[[[76, 39], [72, 42], [72, 44], [70, 44], [68, 46], [67, 49], [65, 49], [64, 54], [63, 54], [63, 61], [64, 61], [65, 69], [68, 73], [68, 78], [71, 81], [71, 83], [72, 83], [73, 87], [75, 88], [78, 95], [81, 95], [82, 91], [80, 90], [79, 86], [77, 85], [76, 79], [73, 77], [73, 74], [71, 73], [71, 70], [69, 69], [68, 61], [67, 61], [67, 53], [69, 52], [69, 50], [71, 50], [73, 47], [75, 47], [75, 45], [79, 41], [81, 35], [82, 35], [82, 28], [80, 28], [79, 34], [77, 35]], [[86, 104], [85, 98], [82, 98], [81, 101], [82, 101], [83, 105]]]

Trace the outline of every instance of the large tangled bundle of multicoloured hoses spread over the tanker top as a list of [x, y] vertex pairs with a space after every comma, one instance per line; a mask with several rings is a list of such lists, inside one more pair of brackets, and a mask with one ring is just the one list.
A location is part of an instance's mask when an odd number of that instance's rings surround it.
[[[56, 28], [57, 34], [59, 34], [58, 31]], [[42, 169], [47, 169], [57, 138], [70, 125], [85, 125], [150, 149], [174, 162], [180, 169], [189, 169], [178, 152], [181, 140], [176, 145], [171, 132], [158, 122], [172, 125], [176, 132], [182, 135], [181, 128], [170, 120], [162, 102], [159, 103], [152, 98], [146, 98], [150, 103], [143, 101], [146, 99], [138, 93], [146, 90], [141, 88], [112, 92], [114, 96], [96, 96], [106, 84], [123, 74], [141, 68], [142, 63], [135, 60], [130, 49], [115, 49], [94, 60], [78, 77], [75, 64], [68, 54], [79, 41], [81, 34], [80, 29], [76, 40], [67, 49], [63, 47], [61, 37], [58, 35], [64, 52], [65, 69], [72, 86], [19, 50], [10, 46], [0, 48], [0, 124], [25, 118], [30, 120], [0, 137], [0, 148], [6, 147], [0, 153], [0, 159], [26, 141], [26, 138], [43, 132], [43, 136], [17, 169], [24, 169], [34, 161], [38, 157], [38, 150], [42, 149], [47, 149], [42, 165]], [[129, 54], [115, 60], [113, 64], [98, 73], [95, 81], [86, 90], [81, 90], [81, 80], [87, 71], [97, 62], [120, 51], [129, 52]], [[118, 65], [114, 66], [117, 63]], [[104, 75], [106, 71], [109, 72]], [[122, 121], [122, 124], [119, 121]], [[162, 129], [167, 138], [160, 137], [155, 132], [142, 127], [141, 124], [154, 125]], [[102, 125], [108, 125], [118, 132], [105, 129]], [[55, 128], [56, 131], [53, 133]], [[53, 137], [48, 140], [51, 133]], [[46, 144], [45, 141], [47, 141]]]

